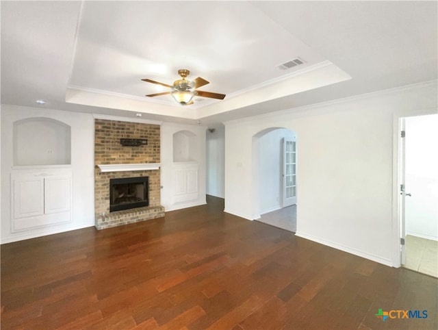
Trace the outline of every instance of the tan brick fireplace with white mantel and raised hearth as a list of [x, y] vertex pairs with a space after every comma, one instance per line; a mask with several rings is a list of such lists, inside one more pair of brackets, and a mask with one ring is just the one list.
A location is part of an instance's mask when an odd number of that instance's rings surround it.
[[[164, 207], [160, 204], [159, 129], [159, 125], [95, 119], [94, 223], [97, 229], [164, 216]], [[146, 139], [147, 144], [123, 146], [120, 144], [120, 138]], [[143, 204], [129, 210], [110, 207], [110, 198], [112, 193], [114, 194], [110, 182], [128, 179], [127, 182], [133, 184], [133, 178], [139, 178], [134, 181], [147, 182], [147, 206]]]

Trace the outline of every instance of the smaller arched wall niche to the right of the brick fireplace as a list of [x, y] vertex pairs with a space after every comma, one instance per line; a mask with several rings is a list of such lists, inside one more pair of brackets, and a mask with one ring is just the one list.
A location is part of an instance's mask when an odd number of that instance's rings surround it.
[[197, 162], [198, 141], [191, 131], [173, 134], [173, 162]]

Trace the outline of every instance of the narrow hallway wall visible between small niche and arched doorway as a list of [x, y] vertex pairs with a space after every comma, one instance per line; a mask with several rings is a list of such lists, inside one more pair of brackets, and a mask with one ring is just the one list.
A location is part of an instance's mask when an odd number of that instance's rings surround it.
[[207, 194], [224, 198], [225, 127], [207, 134]]

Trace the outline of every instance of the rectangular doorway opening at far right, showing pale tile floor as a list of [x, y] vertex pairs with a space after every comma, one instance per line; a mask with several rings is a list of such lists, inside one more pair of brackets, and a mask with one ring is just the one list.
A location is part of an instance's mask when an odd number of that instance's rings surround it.
[[438, 114], [400, 127], [400, 264], [438, 277]]

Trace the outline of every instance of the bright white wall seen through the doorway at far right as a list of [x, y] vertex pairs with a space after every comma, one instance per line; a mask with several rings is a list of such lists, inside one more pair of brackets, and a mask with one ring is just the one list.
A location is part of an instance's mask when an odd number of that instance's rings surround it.
[[405, 119], [406, 233], [438, 240], [438, 114]]

